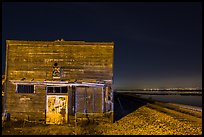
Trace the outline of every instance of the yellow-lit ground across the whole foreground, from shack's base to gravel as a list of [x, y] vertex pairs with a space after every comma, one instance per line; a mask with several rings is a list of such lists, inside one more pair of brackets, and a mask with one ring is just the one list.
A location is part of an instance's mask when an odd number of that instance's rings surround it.
[[[162, 110], [162, 111], [161, 111]], [[202, 117], [144, 105], [115, 123], [92, 121], [75, 125], [7, 122], [2, 135], [202, 135]]]

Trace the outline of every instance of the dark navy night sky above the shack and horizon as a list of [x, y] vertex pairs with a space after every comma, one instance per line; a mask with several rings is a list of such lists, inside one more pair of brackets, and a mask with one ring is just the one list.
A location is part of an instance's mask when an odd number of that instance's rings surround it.
[[201, 3], [2, 3], [5, 41], [115, 43], [114, 88], [202, 87]]

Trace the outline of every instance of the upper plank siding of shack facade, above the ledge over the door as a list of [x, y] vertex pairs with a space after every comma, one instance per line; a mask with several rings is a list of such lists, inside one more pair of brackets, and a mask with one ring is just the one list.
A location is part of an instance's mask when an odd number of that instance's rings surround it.
[[112, 42], [39, 42], [7, 40], [8, 79], [52, 79], [62, 67], [63, 80], [112, 80]]

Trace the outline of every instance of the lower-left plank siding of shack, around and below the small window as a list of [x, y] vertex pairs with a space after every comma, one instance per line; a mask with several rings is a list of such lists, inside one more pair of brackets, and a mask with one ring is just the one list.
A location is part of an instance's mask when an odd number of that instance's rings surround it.
[[35, 86], [35, 94], [16, 93], [16, 85], [8, 83], [6, 110], [13, 119], [45, 119], [45, 86]]

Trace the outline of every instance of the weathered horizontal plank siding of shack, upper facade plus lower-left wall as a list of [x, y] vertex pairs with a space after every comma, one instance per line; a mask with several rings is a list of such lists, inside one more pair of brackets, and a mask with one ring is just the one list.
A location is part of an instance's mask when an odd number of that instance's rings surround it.
[[6, 111], [13, 118], [45, 118], [46, 87], [35, 86], [34, 94], [16, 93], [16, 85], [9, 81], [52, 80], [54, 63], [62, 68], [61, 80], [112, 80], [113, 42], [7, 40], [6, 43]]

